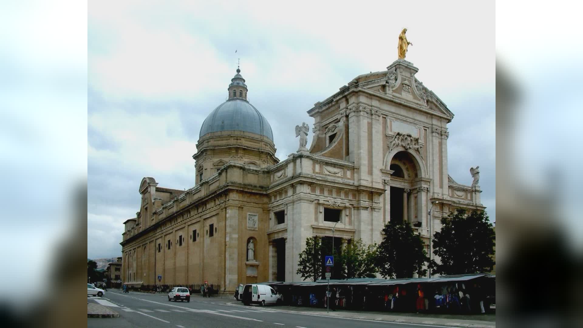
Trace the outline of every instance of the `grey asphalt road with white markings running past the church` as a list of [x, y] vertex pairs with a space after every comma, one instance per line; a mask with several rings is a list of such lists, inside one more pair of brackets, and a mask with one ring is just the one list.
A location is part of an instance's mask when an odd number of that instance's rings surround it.
[[271, 309], [269, 306], [236, 306], [234, 299], [192, 296], [187, 302], [168, 302], [166, 294], [122, 294], [107, 292], [103, 298], [89, 297], [120, 313], [118, 318], [87, 318], [87, 327], [443, 327], [376, 320], [308, 315]]

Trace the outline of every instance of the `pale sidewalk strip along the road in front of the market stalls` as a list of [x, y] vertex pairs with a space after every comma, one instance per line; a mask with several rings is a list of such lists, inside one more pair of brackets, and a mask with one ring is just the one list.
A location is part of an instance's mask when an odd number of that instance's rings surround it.
[[[229, 305], [241, 306], [240, 302], [230, 302]], [[440, 315], [436, 313], [390, 313], [378, 311], [357, 311], [337, 309], [326, 313], [324, 308], [310, 308], [305, 306], [269, 306], [284, 312], [303, 313], [305, 315], [321, 315], [345, 317], [347, 319], [387, 321], [413, 324], [437, 324], [451, 327], [494, 328], [496, 315]]]

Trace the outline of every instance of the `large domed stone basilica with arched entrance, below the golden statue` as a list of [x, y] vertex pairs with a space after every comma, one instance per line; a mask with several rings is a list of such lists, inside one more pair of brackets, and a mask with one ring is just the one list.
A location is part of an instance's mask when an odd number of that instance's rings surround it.
[[278, 159], [271, 126], [248, 101], [237, 69], [228, 99], [202, 123], [195, 186], [159, 187], [153, 177], [139, 184], [141, 207], [124, 222], [122, 280], [208, 281], [227, 291], [301, 281], [296, 270], [307, 238], [334, 238], [339, 249], [354, 239], [380, 243], [390, 220], [410, 222], [430, 253], [442, 216], [484, 207], [478, 168], [472, 186], [448, 175], [454, 114], [417, 71], [401, 58], [386, 71], [356, 76], [307, 111], [311, 131], [298, 124], [297, 152]]

